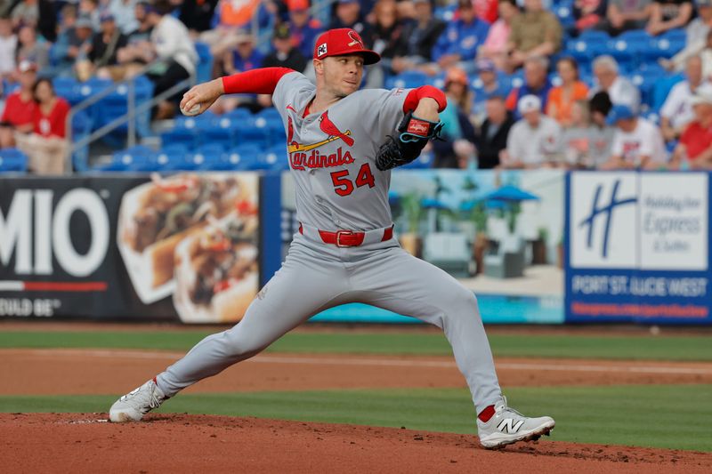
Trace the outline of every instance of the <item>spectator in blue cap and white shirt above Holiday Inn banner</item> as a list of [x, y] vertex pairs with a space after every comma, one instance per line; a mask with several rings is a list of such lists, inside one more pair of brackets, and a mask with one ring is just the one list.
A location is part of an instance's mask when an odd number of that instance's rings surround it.
[[606, 118], [614, 125], [611, 157], [602, 170], [655, 169], [666, 161], [665, 143], [659, 128], [637, 116], [627, 105], [615, 104]]

